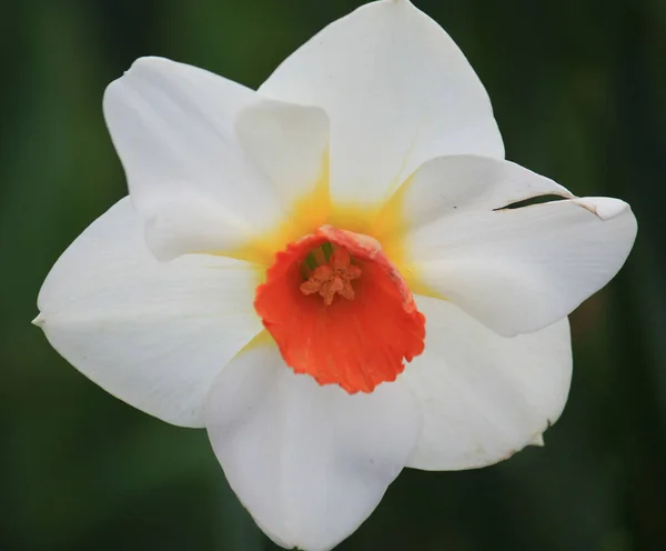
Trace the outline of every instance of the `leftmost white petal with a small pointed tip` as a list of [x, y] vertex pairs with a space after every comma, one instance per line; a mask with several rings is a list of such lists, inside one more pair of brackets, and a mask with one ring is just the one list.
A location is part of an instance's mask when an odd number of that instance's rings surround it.
[[164, 421], [201, 427], [213, 379], [261, 331], [256, 282], [256, 267], [242, 261], [157, 261], [125, 198], [58, 260], [36, 321], [110, 393]]

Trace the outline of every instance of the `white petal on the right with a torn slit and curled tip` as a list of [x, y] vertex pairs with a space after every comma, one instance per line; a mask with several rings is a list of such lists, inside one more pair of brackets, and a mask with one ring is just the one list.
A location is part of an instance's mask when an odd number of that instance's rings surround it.
[[609, 198], [503, 209], [546, 193], [572, 197], [506, 161], [458, 157], [424, 164], [396, 196], [404, 198], [408, 228], [402, 269], [506, 337], [568, 315], [622, 268], [636, 219], [628, 204]]

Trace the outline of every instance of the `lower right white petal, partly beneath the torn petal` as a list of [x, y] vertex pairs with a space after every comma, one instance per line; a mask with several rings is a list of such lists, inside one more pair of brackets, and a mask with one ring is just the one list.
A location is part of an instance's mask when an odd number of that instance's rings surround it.
[[451, 303], [416, 302], [427, 320], [425, 351], [403, 378], [421, 401], [423, 430], [407, 465], [470, 469], [543, 445], [571, 384], [567, 320], [506, 339]]

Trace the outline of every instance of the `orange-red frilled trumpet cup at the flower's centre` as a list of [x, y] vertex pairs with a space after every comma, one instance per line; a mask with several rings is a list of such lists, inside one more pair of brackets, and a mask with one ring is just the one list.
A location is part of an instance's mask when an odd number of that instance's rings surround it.
[[349, 393], [394, 381], [424, 348], [425, 317], [380, 243], [331, 226], [275, 256], [254, 308], [287, 365]]

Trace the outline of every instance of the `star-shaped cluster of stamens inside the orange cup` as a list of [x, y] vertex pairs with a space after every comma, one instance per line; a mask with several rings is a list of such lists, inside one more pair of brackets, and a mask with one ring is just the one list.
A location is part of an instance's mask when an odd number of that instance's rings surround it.
[[[325, 248], [325, 246], [327, 247]], [[307, 256], [307, 259], [312, 258], [316, 259], [320, 266], [314, 268], [309, 279], [301, 283], [301, 292], [303, 294], [320, 293], [326, 305], [333, 303], [335, 294], [354, 300], [352, 280], [361, 277], [361, 269], [351, 263], [352, 259], [347, 250], [342, 247], [332, 250], [331, 243], [323, 243], [321, 248]], [[321, 260], [325, 262], [326, 259], [326, 263], [321, 262]], [[310, 261], [307, 267], [312, 268]]]

